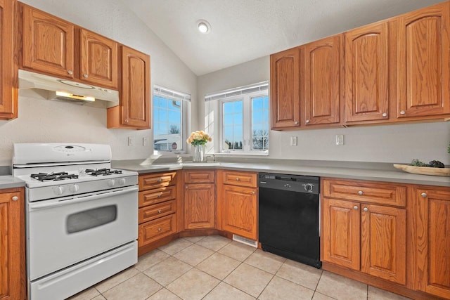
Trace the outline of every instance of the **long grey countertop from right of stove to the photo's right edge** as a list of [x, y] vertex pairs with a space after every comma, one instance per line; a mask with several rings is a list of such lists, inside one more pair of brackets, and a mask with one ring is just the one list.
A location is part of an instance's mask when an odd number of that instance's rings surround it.
[[283, 159], [245, 159], [245, 162], [181, 162], [143, 164], [143, 160], [114, 161], [113, 167], [137, 171], [139, 174], [179, 169], [229, 169], [306, 176], [386, 181], [450, 187], [450, 177], [409, 174], [392, 164], [373, 162], [326, 162]]

